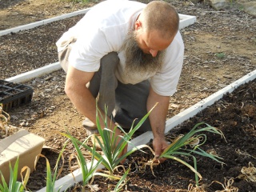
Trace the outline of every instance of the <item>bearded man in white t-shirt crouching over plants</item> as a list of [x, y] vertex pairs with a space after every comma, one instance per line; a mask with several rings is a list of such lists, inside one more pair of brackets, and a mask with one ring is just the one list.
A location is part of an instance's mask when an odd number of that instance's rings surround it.
[[[87, 133], [97, 131], [96, 98], [102, 112], [108, 107], [112, 130], [117, 123], [130, 128], [158, 102], [139, 130], [153, 131], [156, 158], [166, 149], [166, 115], [184, 54], [178, 23], [176, 10], [167, 2], [109, 0], [62, 35], [56, 44], [66, 71], [65, 91], [85, 115]], [[105, 127], [103, 121], [101, 125]]]

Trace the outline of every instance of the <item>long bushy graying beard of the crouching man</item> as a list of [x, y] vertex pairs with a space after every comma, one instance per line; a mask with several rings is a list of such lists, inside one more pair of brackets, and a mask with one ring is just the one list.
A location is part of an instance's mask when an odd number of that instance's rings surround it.
[[126, 71], [129, 73], [155, 73], [162, 69], [162, 62], [166, 51], [158, 51], [156, 57], [145, 54], [138, 46], [136, 32], [130, 31], [122, 45], [126, 58]]

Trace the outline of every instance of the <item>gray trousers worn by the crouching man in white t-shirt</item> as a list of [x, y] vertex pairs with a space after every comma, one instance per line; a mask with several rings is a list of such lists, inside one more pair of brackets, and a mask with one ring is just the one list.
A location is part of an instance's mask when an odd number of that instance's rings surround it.
[[[68, 56], [71, 46], [58, 53], [59, 61], [62, 68], [67, 71]], [[150, 90], [148, 80], [136, 85], [123, 84], [115, 77], [114, 71], [119, 64], [118, 54], [111, 52], [106, 54], [100, 63], [100, 69], [95, 72], [94, 77], [87, 85], [94, 98], [98, 98], [98, 107], [105, 111], [107, 106], [107, 115], [114, 117], [124, 129], [130, 129], [135, 120], [136, 125], [141, 118], [147, 113], [146, 101]], [[139, 132], [151, 130], [150, 121], [146, 122], [139, 128]]]

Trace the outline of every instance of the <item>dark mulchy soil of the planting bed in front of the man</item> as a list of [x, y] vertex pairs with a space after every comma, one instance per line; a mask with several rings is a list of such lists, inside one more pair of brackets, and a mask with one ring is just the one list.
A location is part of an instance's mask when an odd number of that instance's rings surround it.
[[[226, 140], [219, 135], [207, 134], [207, 141], [202, 149], [218, 154], [223, 158], [224, 164], [214, 162], [209, 158], [198, 157], [198, 172], [202, 174], [200, 182], [202, 191], [211, 192], [224, 190], [224, 188], [234, 191], [256, 190], [256, 183], [250, 180], [248, 177], [250, 175], [242, 174], [242, 169], [252, 169], [252, 165], [256, 165], [254, 150], [256, 142], [255, 91], [256, 80], [239, 86], [234, 92], [225, 94], [214, 105], [202, 110], [193, 118], [175, 127], [174, 130], [170, 130], [166, 135], [166, 138], [172, 142], [179, 134], [189, 132], [198, 122], [206, 122], [222, 130]], [[145, 166], [145, 162], [150, 161], [153, 155], [150, 150], [146, 150], [146, 152], [148, 154], [138, 151], [128, 158], [126, 167], [130, 166], [131, 170], [128, 174], [126, 190], [186, 191], [185, 189], [190, 184], [195, 186], [194, 173], [173, 160], [167, 160], [159, 166], [155, 166], [156, 177], [154, 177], [150, 166]], [[192, 159], [186, 158], [185, 160], [193, 165]], [[42, 164], [40, 165], [43, 166]], [[255, 176], [255, 174], [253, 175]], [[99, 191], [113, 189], [116, 183], [101, 177], [96, 177], [93, 182]], [[60, 186], [61, 183], [58, 185]], [[79, 191], [79, 186], [76, 187], [78, 187], [76, 190]]]

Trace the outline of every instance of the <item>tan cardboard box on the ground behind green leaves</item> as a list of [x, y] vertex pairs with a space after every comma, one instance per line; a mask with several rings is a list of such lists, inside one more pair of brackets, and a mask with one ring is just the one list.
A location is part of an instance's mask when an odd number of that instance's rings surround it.
[[[7, 183], [10, 179], [9, 162], [14, 168], [14, 164], [19, 157], [18, 179], [20, 179], [22, 167], [30, 167], [31, 172], [34, 170], [35, 158], [38, 154], [41, 154], [44, 142], [44, 138], [31, 134], [27, 130], [19, 130], [17, 133], [0, 140], [0, 170]], [[1, 178], [0, 182], [2, 182]]]

